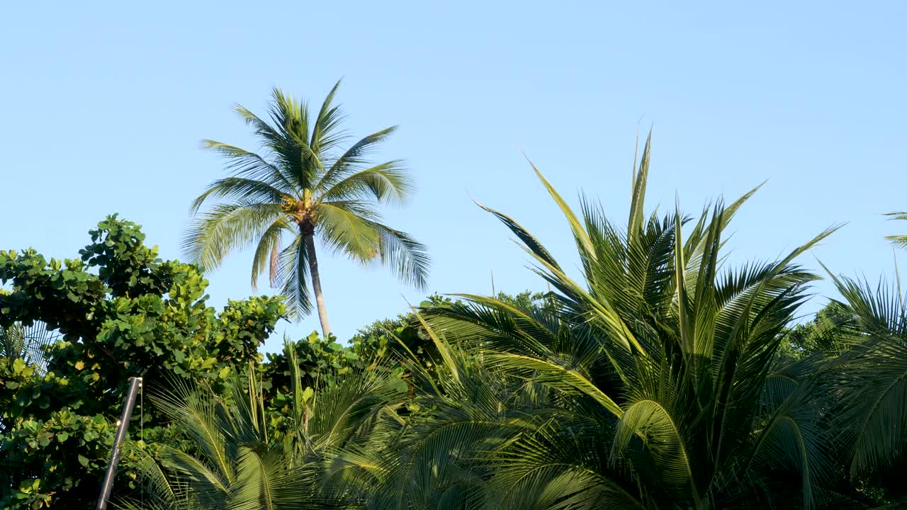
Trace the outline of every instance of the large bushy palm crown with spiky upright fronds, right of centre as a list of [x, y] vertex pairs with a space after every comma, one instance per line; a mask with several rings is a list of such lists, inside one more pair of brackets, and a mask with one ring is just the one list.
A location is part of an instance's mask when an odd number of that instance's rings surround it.
[[[591, 201], [575, 214], [538, 173], [576, 240], [583, 280], [517, 221], [486, 208], [551, 284], [546, 308], [460, 295], [425, 310], [439, 333], [481, 349], [499, 378], [522, 378], [535, 402], [501, 400], [519, 416], [504, 417], [512, 436], [496, 448], [470, 438], [483, 449], [471, 455], [494, 466], [492, 492], [510, 501], [500, 507], [760, 507], [782, 493], [815, 507], [832, 496], [809, 400], [814, 367], [770, 361], [817, 278], [793, 260], [834, 229], [782, 260], [729, 268], [722, 234], [756, 190], [695, 222], [679, 208], [647, 218], [649, 148], [633, 175], [626, 229]], [[555, 391], [548, 402], [545, 387]], [[770, 473], [785, 473], [785, 484], [772, 485]]]

